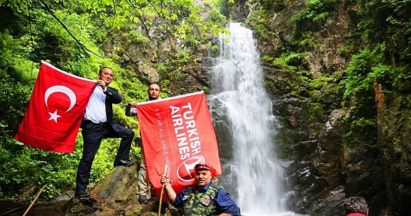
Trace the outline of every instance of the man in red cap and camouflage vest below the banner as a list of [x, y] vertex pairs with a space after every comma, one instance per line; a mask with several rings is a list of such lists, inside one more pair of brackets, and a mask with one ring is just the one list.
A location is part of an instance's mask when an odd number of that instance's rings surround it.
[[186, 216], [221, 215], [239, 216], [240, 208], [231, 195], [219, 184], [212, 182], [212, 167], [208, 163], [195, 165], [195, 184], [175, 193], [171, 181], [162, 174], [160, 182], [169, 200], [182, 208]]

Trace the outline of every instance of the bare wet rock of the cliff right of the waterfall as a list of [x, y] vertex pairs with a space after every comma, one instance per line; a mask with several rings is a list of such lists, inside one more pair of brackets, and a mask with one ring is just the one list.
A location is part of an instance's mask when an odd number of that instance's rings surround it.
[[[386, 89], [376, 84], [375, 104], [371, 100], [361, 106], [370, 107], [373, 113], [366, 115], [374, 116], [377, 127], [362, 121], [363, 130], [354, 131], [351, 128], [358, 122], [358, 114], [344, 110], [342, 95], [330, 91], [338, 88], [349, 64], [349, 55], [338, 49], [349, 45], [347, 36], [356, 29], [353, 19], [360, 19], [358, 7], [349, 1], [338, 3], [326, 22], [312, 27], [315, 47], [305, 47], [303, 58], [288, 62], [307, 77], [332, 75], [336, 79], [317, 95], [308, 93], [311, 87], [303, 84], [295, 71], [271, 61], [297, 50], [292, 44], [296, 27], [289, 20], [306, 8], [306, 1], [236, 1], [229, 10], [232, 21], [253, 29], [265, 58], [266, 88], [276, 98], [273, 110], [283, 123], [279, 139], [292, 146], [283, 157], [292, 160], [287, 169], [290, 191], [286, 200], [290, 211], [296, 213], [343, 216], [341, 201], [350, 195], [365, 197], [370, 215], [409, 215], [411, 211], [408, 90], [394, 89], [394, 99], [386, 99]], [[297, 27], [308, 29], [310, 23], [305, 24]]]

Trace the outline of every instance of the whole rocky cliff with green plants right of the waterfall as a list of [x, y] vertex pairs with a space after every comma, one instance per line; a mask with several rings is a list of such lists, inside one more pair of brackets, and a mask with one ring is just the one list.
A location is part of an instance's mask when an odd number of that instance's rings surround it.
[[230, 6], [229, 19], [253, 29], [285, 125], [279, 139], [282, 157], [292, 160], [292, 211], [342, 215], [341, 200], [362, 195], [370, 215], [408, 215], [410, 91], [401, 76], [409, 67], [399, 53], [408, 34], [399, 38], [390, 22], [408, 15], [390, 15], [397, 10], [397, 3], [374, 1]]

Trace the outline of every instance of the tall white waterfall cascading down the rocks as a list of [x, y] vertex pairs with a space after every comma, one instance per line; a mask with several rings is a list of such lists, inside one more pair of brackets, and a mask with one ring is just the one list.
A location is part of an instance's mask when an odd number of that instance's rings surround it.
[[209, 95], [213, 112], [225, 112], [219, 115], [225, 115], [232, 136], [232, 158], [223, 163], [227, 172], [222, 184], [242, 215], [295, 215], [285, 213], [281, 202], [284, 180], [275, 158], [275, 117], [252, 32], [240, 23], [230, 23], [228, 29], [231, 35], [220, 37]]

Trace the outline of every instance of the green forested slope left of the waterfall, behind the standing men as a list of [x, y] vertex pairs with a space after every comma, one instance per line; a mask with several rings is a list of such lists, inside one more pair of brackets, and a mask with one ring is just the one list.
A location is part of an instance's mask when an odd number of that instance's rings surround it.
[[[208, 5], [215, 3], [210, 1]], [[27, 109], [41, 60], [92, 80], [97, 80], [100, 67], [112, 67], [112, 86], [124, 97], [123, 104], [114, 106], [114, 121], [139, 134], [137, 119], [125, 117], [125, 103], [145, 101], [149, 82], [158, 78], [150, 81], [145, 75], [140, 80], [136, 70], [127, 68], [123, 56], [117, 54], [123, 47], [107, 48], [110, 43], [121, 37], [129, 44], [138, 44], [141, 58], [154, 62], [158, 43], [164, 43], [160, 40], [171, 38], [199, 44], [224, 31], [219, 28], [223, 16], [204, 21], [198, 14], [199, 7], [185, 0], [0, 1], [0, 9], [1, 200], [32, 200], [43, 185], [45, 190], [40, 199], [47, 200], [75, 186], [75, 173], [82, 156], [81, 133], [73, 154], [47, 152], [13, 139]], [[153, 27], [161, 29], [162, 34], [153, 36], [150, 32]], [[162, 77], [162, 97], [179, 93], [171, 92], [173, 84], [169, 84], [167, 77], [178, 75], [177, 69], [189, 56], [184, 48], [171, 49], [171, 56], [165, 62], [152, 64]], [[145, 64], [142, 59], [138, 61]], [[117, 139], [103, 141], [93, 163], [90, 185], [114, 169], [112, 161], [118, 146]], [[140, 147], [133, 145], [130, 157], [140, 158]]]

